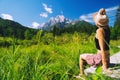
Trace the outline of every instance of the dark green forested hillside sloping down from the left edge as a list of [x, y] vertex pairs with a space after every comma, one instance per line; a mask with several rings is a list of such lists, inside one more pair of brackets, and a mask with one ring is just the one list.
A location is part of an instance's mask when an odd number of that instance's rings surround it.
[[31, 39], [37, 31], [36, 29], [22, 26], [17, 22], [0, 18], [0, 36]]

